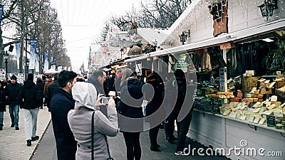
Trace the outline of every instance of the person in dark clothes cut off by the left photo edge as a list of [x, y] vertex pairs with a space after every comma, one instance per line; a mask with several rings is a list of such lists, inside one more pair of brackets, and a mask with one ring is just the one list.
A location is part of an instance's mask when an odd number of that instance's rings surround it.
[[4, 112], [6, 112], [6, 89], [4, 84], [0, 81], [0, 131], [3, 129]]

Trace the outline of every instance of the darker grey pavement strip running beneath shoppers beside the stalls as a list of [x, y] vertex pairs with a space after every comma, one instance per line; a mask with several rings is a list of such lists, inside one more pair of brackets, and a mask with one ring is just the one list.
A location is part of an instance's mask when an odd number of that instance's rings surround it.
[[[175, 135], [176, 136], [176, 135]], [[118, 133], [116, 137], [108, 137], [110, 146], [110, 152], [115, 160], [126, 160], [126, 147], [123, 134]], [[140, 134], [140, 144], [142, 148], [142, 160], [226, 160], [221, 156], [176, 156], [175, 148], [176, 144], [170, 144], [165, 139], [164, 129], [160, 129], [157, 137], [157, 142], [160, 144], [161, 152], [150, 151], [150, 138], [148, 132], [142, 132]], [[191, 144], [191, 147], [203, 147], [197, 142], [192, 142], [187, 138], [187, 143]], [[52, 124], [48, 125], [41, 143], [38, 145], [31, 160], [57, 160], [56, 158], [56, 142], [53, 135]]]

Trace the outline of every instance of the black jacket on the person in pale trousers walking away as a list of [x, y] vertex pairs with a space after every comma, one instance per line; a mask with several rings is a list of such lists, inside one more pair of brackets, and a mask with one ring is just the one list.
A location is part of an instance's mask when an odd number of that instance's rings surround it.
[[26, 80], [19, 94], [20, 108], [33, 110], [41, 105], [41, 91], [32, 80]]

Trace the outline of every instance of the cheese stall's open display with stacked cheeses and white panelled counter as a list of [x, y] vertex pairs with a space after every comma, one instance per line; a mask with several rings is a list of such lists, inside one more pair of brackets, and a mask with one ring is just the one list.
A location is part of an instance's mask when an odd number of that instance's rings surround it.
[[[284, 159], [285, 41], [279, 33], [237, 41], [227, 50], [207, 48], [212, 69], [197, 63], [188, 137], [231, 159]], [[217, 53], [227, 55], [226, 70], [214, 65]]]

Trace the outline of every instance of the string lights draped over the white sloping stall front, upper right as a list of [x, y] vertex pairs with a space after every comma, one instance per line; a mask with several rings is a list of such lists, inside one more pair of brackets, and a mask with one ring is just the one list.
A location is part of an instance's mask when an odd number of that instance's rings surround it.
[[[229, 2], [229, 0], [227, 0]], [[205, 29], [212, 28], [212, 26], [209, 26], [209, 21], [212, 21], [212, 16], [209, 14], [208, 6], [217, 6], [218, 9], [222, 9], [223, 7], [226, 7], [227, 11], [222, 10], [222, 14], [217, 14], [217, 18], [220, 19], [220, 23], [217, 23], [217, 27], [222, 27], [224, 25], [224, 19], [223, 15], [228, 18], [228, 23], [231, 23], [229, 27], [231, 27], [231, 31], [234, 31], [234, 28], [237, 26], [236, 18], [241, 17], [243, 18], [244, 24], [241, 24], [244, 26], [244, 28], [252, 27], [250, 25], [250, 22], [252, 19], [261, 18], [260, 12], [257, 9], [257, 6], [262, 4], [264, 0], [256, 0], [256, 1], [244, 1], [244, 0], [236, 0], [236, 1], [230, 1], [229, 4], [227, 4], [227, 1], [218, 1], [218, 0], [201, 0], [192, 11], [189, 11], [187, 16], [185, 16], [185, 19], [183, 19], [180, 23], [178, 23], [177, 27], [170, 33], [172, 35], [172, 38], [175, 38], [177, 41], [179, 41], [179, 35], [181, 34], [181, 31], [190, 30], [190, 33], [196, 34], [199, 32], [199, 28], [202, 25]], [[218, 4], [222, 4], [222, 6], [219, 6]], [[190, 4], [191, 5], [191, 4]], [[239, 6], [240, 5], [240, 6]], [[242, 13], [240, 16], [237, 15], [237, 9], [241, 9]], [[284, 12], [285, 12], [285, 1], [281, 0], [279, 1], [279, 13], [274, 15], [272, 18], [274, 18], [274, 21], [279, 20], [281, 18], [284, 18]], [[253, 14], [256, 13], [256, 14]], [[199, 15], [197, 15], [199, 14]], [[170, 41], [170, 39], [168, 39]], [[168, 42], [167, 41], [167, 42]]]

